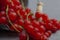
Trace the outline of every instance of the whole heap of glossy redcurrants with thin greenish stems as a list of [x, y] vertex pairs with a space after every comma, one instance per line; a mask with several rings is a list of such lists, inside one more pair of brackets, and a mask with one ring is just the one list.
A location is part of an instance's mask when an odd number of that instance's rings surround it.
[[19, 40], [48, 40], [52, 33], [60, 30], [58, 20], [39, 11], [34, 15], [19, 0], [0, 0], [0, 24], [19, 32]]

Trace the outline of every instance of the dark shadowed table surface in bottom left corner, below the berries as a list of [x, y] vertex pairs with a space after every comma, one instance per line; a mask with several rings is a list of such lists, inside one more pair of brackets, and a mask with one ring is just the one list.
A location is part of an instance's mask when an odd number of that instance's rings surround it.
[[19, 34], [15, 32], [0, 32], [0, 40], [19, 40]]

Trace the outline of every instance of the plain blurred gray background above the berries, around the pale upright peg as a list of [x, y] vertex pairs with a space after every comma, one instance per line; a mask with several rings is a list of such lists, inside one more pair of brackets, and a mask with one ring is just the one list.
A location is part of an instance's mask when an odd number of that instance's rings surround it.
[[[35, 12], [38, 0], [29, 0], [29, 8]], [[48, 14], [50, 18], [60, 20], [60, 0], [39, 0], [44, 3], [43, 12]]]

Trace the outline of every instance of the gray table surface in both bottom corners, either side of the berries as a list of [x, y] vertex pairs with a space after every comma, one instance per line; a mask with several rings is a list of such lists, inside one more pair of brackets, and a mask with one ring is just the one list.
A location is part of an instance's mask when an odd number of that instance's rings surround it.
[[[0, 33], [0, 40], [19, 40], [17, 33]], [[60, 40], [60, 30], [52, 34], [49, 40]]]

